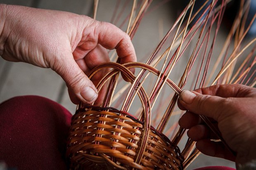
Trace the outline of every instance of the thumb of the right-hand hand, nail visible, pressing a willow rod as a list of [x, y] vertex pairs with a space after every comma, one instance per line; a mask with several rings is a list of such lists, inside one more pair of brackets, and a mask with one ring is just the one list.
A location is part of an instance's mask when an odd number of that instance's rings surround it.
[[223, 108], [225, 108], [224, 100], [219, 96], [204, 95], [189, 90], [183, 90], [179, 97], [180, 104], [190, 112], [212, 117], [216, 121], [219, 120]]

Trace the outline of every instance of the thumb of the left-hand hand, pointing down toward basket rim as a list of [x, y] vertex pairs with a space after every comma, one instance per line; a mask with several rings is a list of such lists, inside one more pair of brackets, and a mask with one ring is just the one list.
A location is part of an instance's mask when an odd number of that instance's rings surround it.
[[[72, 54], [71, 54], [72, 55]], [[55, 63], [53, 68], [66, 82], [69, 90], [83, 103], [92, 103], [97, 99], [98, 92], [92, 81], [80, 69], [72, 57], [65, 57], [66, 60]]]

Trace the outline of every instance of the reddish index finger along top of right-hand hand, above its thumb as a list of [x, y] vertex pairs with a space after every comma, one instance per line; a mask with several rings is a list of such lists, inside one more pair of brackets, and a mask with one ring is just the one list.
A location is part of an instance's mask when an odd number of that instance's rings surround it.
[[[226, 85], [213, 85], [210, 87], [200, 88], [194, 90], [200, 94], [207, 94], [211, 96], [220, 96], [220, 97], [250, 97], [249, 94], [255, 95], [256, 89], [251, 88], [246, 85], [239, 84], [226, 84]], [[253, 91], [253, 92], [252, 92]]]

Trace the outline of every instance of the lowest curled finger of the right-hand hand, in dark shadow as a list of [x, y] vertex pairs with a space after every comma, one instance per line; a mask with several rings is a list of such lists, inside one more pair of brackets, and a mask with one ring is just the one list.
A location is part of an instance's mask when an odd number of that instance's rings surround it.
[[208, 156], [235, 161], [235, 156], [223, 145], [222, 142], [214, 142], [208, 139], [196, 142], [197, 149]]

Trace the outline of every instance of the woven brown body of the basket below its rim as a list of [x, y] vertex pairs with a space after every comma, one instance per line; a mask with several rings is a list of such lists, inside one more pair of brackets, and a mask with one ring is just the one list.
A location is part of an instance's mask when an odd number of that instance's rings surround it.
[[180, 149], [152, 126], [145, 152], [138, 155], [142, 135], [143, 122], [129, 113], [112, 108], [78, 109], [67, 149], [71, 168], [182, 169]]

